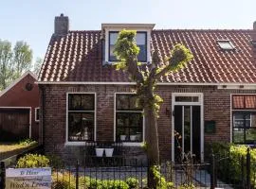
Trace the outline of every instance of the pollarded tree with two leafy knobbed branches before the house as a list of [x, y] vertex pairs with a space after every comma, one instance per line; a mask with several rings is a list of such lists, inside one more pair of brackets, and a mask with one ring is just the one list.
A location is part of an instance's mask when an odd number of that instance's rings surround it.
[[[137, 83], [138, 103], [144, 109], [145, 116], [145, 138], [147, 145], [147, 156], [151, 167], [159, 164], [159, 147], [157, 117], [162, 99], [155, 94], [155, 84], [160, 77], [183, 68], [188, 61], [192, 60], [192, 53], [182, 44], [174, 45], [171, 57], [160, 63], [157, 52], [152, 55], [150, 65], [142, 65], [137, 61], [139, 47], [136, 44], [135, 30], [121, 30], [115, 44], [114, 54], [119, 62], [117, 69], [122, 69], [129, 74], [129, 77]], [[155, 188], [154, 174], [150, 169], [148, 185]]]

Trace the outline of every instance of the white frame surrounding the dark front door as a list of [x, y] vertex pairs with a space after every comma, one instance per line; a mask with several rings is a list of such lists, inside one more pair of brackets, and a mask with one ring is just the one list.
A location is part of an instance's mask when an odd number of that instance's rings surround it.
[[[198, 96], [198, 102], [176, 102], [175, 97], [176, 96]], [[205, 146], [205, 125], [204, 125], [204, 94], [203, 93], [173, 93], [172, 94], [172, 112], [174, 112], [174, 106], [175, 105], [183, 105], [183, 106], [200, 106], [200, 116], [201, 116], [201, 162], [204, 162], [204, 146]], [[173, 113], [172, 113], [173, 114]], [[174, 162], [174, 116], [172, 119], [172, 162]]]

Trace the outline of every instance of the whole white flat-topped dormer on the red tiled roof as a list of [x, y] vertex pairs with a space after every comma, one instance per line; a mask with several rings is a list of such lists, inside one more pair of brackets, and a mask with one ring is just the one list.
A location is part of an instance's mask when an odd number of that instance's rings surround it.
[[115, 43], [118, 40], [119, 31], [124, 28], [137, 31], [136, 43], [139, 47], [137, 60], [144, 63], [149, 62], [151, 60], [150, 36], [154, 26], [155, 25], [153, 24], [102, 24], [102, 32], [105, 35], [105, 54], [102, 56], [103, 64], [109, 64], [118, 61], [113, 51]]

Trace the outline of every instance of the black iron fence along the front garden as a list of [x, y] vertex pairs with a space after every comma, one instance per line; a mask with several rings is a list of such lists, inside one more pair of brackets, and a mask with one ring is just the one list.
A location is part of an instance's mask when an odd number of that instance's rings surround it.
[[[5, 163], [0, 164], [0, 189], [5, 189]], [[145, 188], [151, 167], [123, 157], [88, 157], [80, 163], [52, 167], [52, 188]], [[209, 163], [160, 163], [159, 188], [256, 188], [256, 161], [245, 156], [211, 155]], [[162, 186], [162, 187], [161, 187]], [[184, 187], [185, 188], [185, 187]]]

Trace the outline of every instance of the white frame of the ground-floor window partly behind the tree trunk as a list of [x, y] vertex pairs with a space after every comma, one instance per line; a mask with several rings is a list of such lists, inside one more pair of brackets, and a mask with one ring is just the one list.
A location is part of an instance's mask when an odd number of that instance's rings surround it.
[[[117, 94], [136, 94], [136, 93], [115, 93], [114, 94], [114, 142], [116, 142], [116, 117], [117, 117], [117, 112], [122, 112], [122, 111], [117, 111]], [[128, 111], [123, 111], [123, 112], [128, 112]], [[138, 112], [138, 111], [129, 111], [129, 112]], [[141, 111], [142, 116], [143, 116], [143, 123], [142, 123], [142, 142], [137, 142], [137, 143], [132, 143], [132, 142], [122, 142], [123, 146], [142, 146], [143, 142], [145, 141], [145, 116], [144, 116], [144, 111]]]

